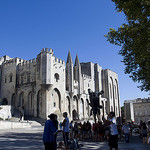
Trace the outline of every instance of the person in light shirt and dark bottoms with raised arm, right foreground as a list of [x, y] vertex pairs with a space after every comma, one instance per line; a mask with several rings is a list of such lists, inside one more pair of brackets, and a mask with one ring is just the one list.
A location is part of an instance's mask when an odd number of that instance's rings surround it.
[[110, 147], [110, 150], [112, 148], [115, 148], [115, 150], [118, 150], [118, 130], [116, 125], [116, 119], [115, 119], [115, 113], [110, 112], [108, 115], [109, 119], [106, 120], [104, 117], [102, 118], [105, 124], [109, 124], [110, 126], [110, 135], [108, 140], [108, 145]]

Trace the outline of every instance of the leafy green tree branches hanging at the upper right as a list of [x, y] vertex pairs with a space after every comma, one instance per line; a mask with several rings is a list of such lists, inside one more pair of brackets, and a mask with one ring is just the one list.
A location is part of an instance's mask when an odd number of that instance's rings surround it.
[[118, 30], [110, 29], [107, 41], [121, 46], [125, 73], [139, 88], [150, 91], [150, 0], [112, 0], [127, 23]]

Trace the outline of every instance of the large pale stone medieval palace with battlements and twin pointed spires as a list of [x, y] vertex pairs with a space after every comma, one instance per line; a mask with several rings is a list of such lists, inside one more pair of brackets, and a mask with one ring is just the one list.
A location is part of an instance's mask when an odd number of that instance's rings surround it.
[[12, 108], [20, 106], [25, 116], [46, 119], [50, 113], [67, 111], [70, 119], [90, 118], [88, 89], [104, 91], [99, 96], [101, 115], [110, 111], [120, 116], [118, 75], [92, 62], [73, 64], [70, 51], [67, 62], [42, 49], [36, 59], [26, 61], [0, 58], [0, 98]]

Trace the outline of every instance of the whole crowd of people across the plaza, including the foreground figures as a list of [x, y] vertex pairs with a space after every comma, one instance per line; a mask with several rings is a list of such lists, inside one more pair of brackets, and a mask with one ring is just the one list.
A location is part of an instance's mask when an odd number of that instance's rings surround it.
[[[150, 121], [148, 124], [141, 121], [139, 125], [126, 121], [123, 124], [117, 124], [114, 112], [110, 112], [108, 119], [103, 117], [102, 121], [98, 121], [97, 123], [89, 121], [69, 122], [67, 112], [63, 113], [64, 120], [60, 123], [57, 121], [56, 114], [51, 114], [48, 117], [50, 119], [45, 122], [43, 133], [45, 150], [56, 150], [59, 146], [63, 146], [63, 144], [65, 149], [70, 149], [71, 146], [73, 149], [79, 148], [78, 141], [80, 140], [94, 142], [107, 141], [110, 150], [112, 148], [118, 150], [118, 140], [129, 143], [135, 126], [139, 129], [139, 135], [143, 138], [143, 143], [149, 143], [150, 140]], [[59, 132], [63, 132], [63, 142], [60, 142], [58, 145], [56, 139]]]

